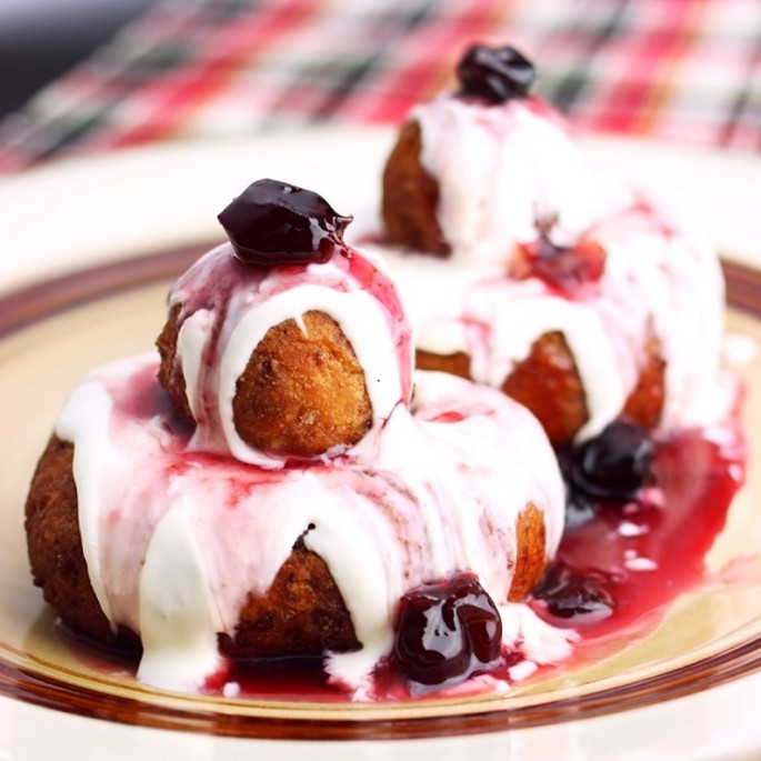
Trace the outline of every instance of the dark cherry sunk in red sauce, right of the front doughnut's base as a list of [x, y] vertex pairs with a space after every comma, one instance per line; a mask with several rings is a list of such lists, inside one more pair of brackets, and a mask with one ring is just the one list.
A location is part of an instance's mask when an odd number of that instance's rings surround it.
[[551, 564], [533, 590], [538, 600], [559, 619], [585, 619], [588, 622], [608, 618], [615, 608], [615, 580], [602, 571], [577, 571], [564, 563]]

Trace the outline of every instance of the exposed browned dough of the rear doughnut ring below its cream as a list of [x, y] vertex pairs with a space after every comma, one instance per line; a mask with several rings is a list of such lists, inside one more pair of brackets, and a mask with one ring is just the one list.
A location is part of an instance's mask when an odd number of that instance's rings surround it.
[[[422, 370], [438, 370], [472, 380], [470, 358], [464, 352], [444, 356], [419, 349], [415, 362]], [[637, 385], [629, 394], [621, 417], [641, 428], [654, 428], [663, 410], [664, 376], [660, 343], [651, 331]], [[529, 356], [505, 378], [502, 391], [533, 412], [555, 449], [570, 447], [589, 419], [587, 394], [573, 354], [560, 331], [543, 333], [531, 344]]]

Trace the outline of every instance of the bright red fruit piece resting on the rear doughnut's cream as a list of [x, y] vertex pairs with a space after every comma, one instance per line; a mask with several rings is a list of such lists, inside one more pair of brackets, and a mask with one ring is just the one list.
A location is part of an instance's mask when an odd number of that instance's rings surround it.
[[534, 241], [519, 243], [518, 252], [517, 276], [534, 276], [565, 293], [597, 282], [605, 269], [605, 250], [599, 243], [581, 240], [571, 247], [558, 246], [545, 231]]

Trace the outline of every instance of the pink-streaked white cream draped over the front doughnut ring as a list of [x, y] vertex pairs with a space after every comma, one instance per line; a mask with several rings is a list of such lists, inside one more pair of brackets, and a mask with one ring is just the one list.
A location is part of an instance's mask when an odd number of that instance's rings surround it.
[[[469, 569], [505, 601], [529, 502], [544, 510], [548, 555], [560, 541], [563, 487], [549, 442], [488, 388], [419, 373], [414, 414], [394, 408], [372, 462], [359, 453], [273, 471], [193, 451], [157, 370], [153, 358], [99, 370], [57, 428], [74, 444], [78, 492], [98, 494], [80, 504], [93, 587], [110, 620], [141, 634], [139, 677], [151, 684], [198, 689], [217, 664], [217, 633], [234, 632], [247, 595], [266, 592], [301, 535], [326, 560], [362, 642], [328, 667], [358, 690], [391, 647], [405, 590]], [[505, 631], [514, 637], [514, 622]], [[553, 640], [547, 658], [563, 643]], [[541, 660], [541, 643], [525, 647]]]

